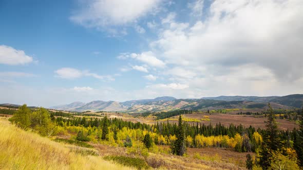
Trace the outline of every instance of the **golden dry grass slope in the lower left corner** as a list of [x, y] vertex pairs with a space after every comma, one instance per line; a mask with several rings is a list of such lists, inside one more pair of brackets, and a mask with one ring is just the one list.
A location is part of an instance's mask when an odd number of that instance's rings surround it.
[[0, 169], [129, 169], [26, 132], [0, 118]]

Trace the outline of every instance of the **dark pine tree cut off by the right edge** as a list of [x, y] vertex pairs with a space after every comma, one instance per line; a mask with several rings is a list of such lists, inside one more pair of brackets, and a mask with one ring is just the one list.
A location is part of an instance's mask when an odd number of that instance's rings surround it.
[[303, 116], [301, 117], [299, 130], [296, 133], [294, 148], [298, 155], [299, 165], [303, 167]]

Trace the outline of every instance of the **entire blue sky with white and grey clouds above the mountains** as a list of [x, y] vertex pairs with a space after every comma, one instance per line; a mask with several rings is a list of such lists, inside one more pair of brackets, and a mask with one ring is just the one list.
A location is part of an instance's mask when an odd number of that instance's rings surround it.
[[0, 103], [303, 93], [301, 0], [0, 1]]

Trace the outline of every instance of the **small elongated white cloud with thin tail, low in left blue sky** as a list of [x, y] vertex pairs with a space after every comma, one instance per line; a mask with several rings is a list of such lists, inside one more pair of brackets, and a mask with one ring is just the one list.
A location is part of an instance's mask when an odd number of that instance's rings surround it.
[[77, 70], [73, 68], [62, 68], [59, 70], [54, 71], [56, 73], [56, 77], [64, 78], [64, 79], [75, 79], [80, 78], [83, 76], [90, 76], [101, 80], [108, 80], [108, 81], [114, 81], [115, 78], [113, 78], [110, 75], [98, 75], [96, 73], [90, 73], [88, 70]]

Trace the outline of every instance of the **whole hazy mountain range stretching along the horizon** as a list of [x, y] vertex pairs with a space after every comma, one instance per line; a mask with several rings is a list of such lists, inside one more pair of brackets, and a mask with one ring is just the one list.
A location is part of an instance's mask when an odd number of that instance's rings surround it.
[[272, 103], [274, 108], [292, 109], [301, 108], [303, 105], [303, 94], [287, 96], [218, 96], [203, 97], [200, 99], [176, 99], [163, 96], [154, 99], [119, 101], [96, 100], [88, 103], [80, 101], [70, 104], [58, 105], [50, 109], [65, 111], [119, 111], [119, 112], [149, 112], [169, 111], [177, 109], [207, 110], [207, 109], [236, 109], [236, 108], [266, 108], [267, 103]]

